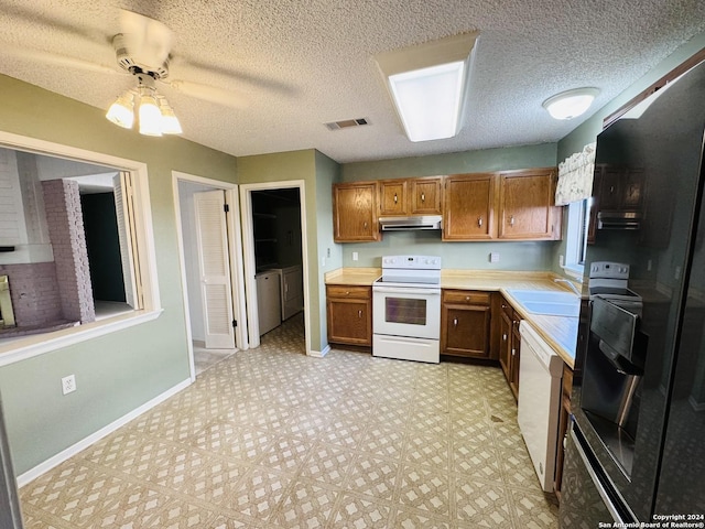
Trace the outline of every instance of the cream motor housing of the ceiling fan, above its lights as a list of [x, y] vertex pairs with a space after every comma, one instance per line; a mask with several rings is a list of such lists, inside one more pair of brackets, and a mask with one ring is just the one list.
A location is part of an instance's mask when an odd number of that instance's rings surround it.
[[122, 9], [120, 31], [124, 47], [137, 64], [155, 71], [169, 60], [174, 35], [162, 22]]

